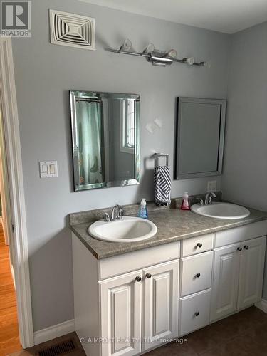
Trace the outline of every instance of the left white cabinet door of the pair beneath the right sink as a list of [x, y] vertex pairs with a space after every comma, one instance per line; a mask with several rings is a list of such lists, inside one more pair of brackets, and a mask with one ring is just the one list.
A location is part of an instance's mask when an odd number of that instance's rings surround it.
[[241, 244], [233, 244], [214, 250], [211, 321], [234, 313], [237, 308], [240, 256]]

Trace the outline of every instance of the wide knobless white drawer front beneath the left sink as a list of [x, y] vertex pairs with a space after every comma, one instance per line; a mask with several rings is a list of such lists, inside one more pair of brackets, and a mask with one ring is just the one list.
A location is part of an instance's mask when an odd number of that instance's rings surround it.
[[103, 258], [99, 261], [99, 278], [109, 278], [139, 268], [153, 266], [180, 257], [180, 242], [143, 248], [142, 250], [123, 253], [119, 256]]

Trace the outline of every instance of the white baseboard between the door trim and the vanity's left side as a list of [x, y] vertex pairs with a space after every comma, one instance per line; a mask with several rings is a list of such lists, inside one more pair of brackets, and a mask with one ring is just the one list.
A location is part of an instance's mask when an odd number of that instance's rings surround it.
[[34, 345], [56, 339], [56, 337], [66, 335], [68, 333], [73, 333], [73, 331], [75, 331], [74, 319], [49, 326], [49, 328], [38, 330], [34, 333]]

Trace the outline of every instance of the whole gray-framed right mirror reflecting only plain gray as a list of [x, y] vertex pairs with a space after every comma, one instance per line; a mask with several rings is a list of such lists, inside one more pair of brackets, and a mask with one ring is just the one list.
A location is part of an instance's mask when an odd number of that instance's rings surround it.
[[176, 179], [221, 174], [226, 100], [177, 100]]

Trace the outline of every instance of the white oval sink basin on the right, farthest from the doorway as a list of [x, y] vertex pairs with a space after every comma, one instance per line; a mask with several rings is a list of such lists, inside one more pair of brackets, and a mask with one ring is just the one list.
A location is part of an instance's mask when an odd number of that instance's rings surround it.
[[194, 204], [191, 211], [202, 216], [216, 219], [242, 219], [251, 212], [244, 206], [230, 203], [212, 203], [210, 205]]

